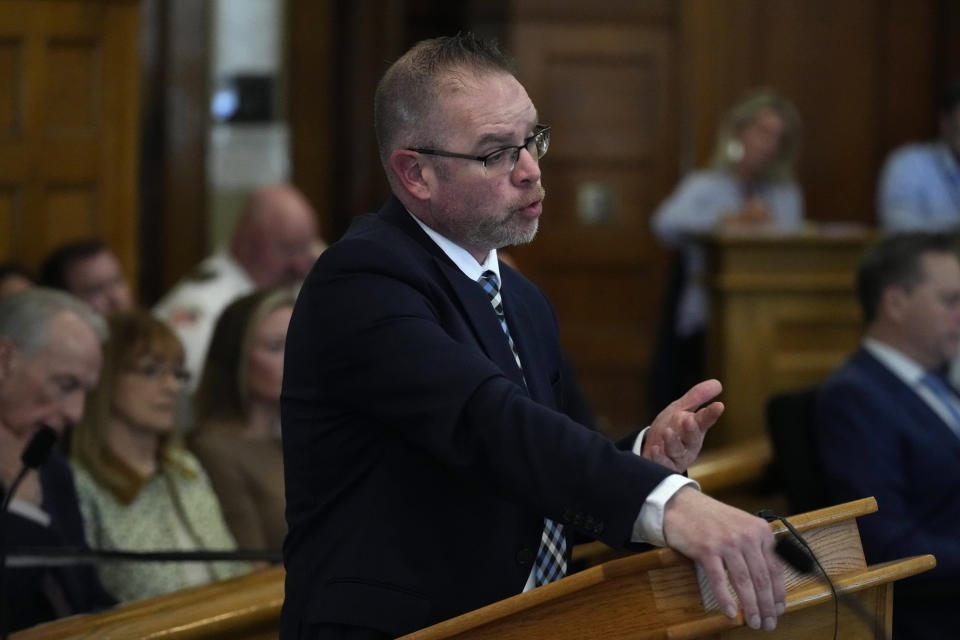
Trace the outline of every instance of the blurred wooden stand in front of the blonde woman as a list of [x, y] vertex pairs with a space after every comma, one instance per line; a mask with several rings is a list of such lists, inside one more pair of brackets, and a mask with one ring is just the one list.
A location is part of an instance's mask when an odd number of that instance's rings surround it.
[[711, 448], [765, 437], [764, 407], [773, 394], [820, 382], [856, 349], [862, 320], [854, 279], [874, 239], [858, 228], [702, 238], [710, 293], [706, 376], [723, 382], [727, 407]]

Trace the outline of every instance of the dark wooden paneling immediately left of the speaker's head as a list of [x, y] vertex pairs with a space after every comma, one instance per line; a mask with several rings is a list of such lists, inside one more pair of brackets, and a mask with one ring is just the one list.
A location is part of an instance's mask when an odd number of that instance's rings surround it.
[[389, 193], [373, 93], [389, 61], [403, 53], [404, 12], [402, 0], [288, 5], [293, 179], [330, 242]]

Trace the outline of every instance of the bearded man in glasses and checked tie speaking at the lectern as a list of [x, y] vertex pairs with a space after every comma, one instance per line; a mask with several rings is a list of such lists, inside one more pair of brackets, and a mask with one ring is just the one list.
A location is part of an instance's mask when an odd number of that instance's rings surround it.
[[537, 230], [550, 131], [496, 46], [421, 42], [375, 102], [394, 197], [320, 257], [287, 338], [282, 637], [394, 637], [515, 595], [563, 576], [576, 532], [666, 543], [728, 615], [732, 585], [772, 629], [769, 527], [677, 473], [722, 411], [697, 410], [719, 383], [634, 452], [561, 412], [553, 309], [496, 253]]

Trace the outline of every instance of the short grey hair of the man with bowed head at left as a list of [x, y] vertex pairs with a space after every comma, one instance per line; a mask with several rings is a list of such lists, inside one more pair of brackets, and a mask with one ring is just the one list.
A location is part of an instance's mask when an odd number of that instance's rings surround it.
[[46, 287], [31, 287], [0, 301], [0, 337], [9, 338], [25, 358], [32, 358], [47, 346], [50, 321], [64, 312], [80, 318], [101, 342], [107, 339], [107, 324], [100, 314], [82, 300]]

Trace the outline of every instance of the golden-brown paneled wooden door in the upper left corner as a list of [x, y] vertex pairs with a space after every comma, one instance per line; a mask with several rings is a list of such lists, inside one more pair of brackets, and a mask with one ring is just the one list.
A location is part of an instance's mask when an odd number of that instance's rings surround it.
[[0, 3], [0, 261], [102, 237], [136, 281], [138, 8]]

